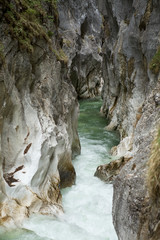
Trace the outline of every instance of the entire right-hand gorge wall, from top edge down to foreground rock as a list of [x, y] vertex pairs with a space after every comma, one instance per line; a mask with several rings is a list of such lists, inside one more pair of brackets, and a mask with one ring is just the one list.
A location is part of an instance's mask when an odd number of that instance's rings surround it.
[[160, 44], [160, 3], [97, 3], [104, 29], [102, 111], [111, 119], [107, 129], [118, 128], [121, 134], [115, 152], [130, 158], [114, 182], [115, 229], [121, 240], [159, 239], [159, 210], [150, 204], [145, 178], [150, 145], [160, 121], [156, 100], [160, 77], [158, 71], [151, 71], [156, 64], [150, 65]]

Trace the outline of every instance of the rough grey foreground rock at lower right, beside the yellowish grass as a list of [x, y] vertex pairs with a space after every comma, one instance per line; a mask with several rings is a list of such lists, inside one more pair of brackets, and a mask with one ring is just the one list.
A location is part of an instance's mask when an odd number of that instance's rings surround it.
[[113, 220], [120, 239], [147, 240], [158, 232], [158, 209], [155, 211], [150, 205], [145, 180], [150, 147], [160, 120], [160, 105], [154, 101], [157, 91], [160, 83], [146, 100], [135, 129], [133, 158], [114, 183]]

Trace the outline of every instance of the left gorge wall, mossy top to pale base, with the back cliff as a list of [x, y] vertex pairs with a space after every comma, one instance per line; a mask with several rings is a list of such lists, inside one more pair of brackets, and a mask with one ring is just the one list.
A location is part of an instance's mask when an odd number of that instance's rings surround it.
[[102, 85], [96, 1], [55, 2], [0, 0], [2, 224], [62, 210], [60, 187], [74, 184], [80, 152], [77, 93], [93, 97]]

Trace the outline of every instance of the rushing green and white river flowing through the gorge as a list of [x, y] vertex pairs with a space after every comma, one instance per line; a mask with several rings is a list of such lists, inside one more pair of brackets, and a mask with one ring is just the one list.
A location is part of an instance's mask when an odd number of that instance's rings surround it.
[[74, 160], [76, 185], [62, 191], [65, 214], [60, 219], [32, 216], [23, 229], [7, 233], [1, 229], [0, 240], [117, 240], [112, 185], [94, 177], [97, 166], [111, 160], [109, 150], [118, 143], [115, 132], [104, 130], [100, 106], [99, 100], [80, 102], [81, 155]]

